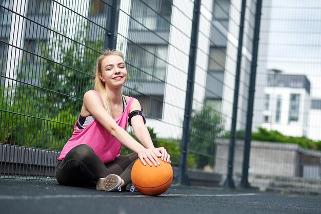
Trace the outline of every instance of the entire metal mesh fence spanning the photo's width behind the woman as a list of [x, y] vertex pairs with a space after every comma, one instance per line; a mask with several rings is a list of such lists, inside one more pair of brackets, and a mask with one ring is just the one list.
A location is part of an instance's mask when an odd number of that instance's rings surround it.
[[[226, 186], [233, 179], [237, 185], [248, 156], [251, 186], [319, 192], [320, 6], [264, 0], [253, 55], [259, 1], [199, 1], [194, 37], [196, 2], [0, 1], [1, 177], [54, 179], [83, 95], [93, 88], [96, 59], [116, 48], [130, 76], [123, 94], [141, 102], [154, 145], [166, 147], [175, 170], [182, 167], [184, 121], [190, 119], [192, 184]], [[254, 110], [248, 112], [255, 71]], [[244, 139], [252, 114], [249, 156]]]

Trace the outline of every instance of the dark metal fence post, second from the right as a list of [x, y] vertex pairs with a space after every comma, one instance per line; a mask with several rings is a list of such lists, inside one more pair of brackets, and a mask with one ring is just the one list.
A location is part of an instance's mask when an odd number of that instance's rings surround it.
[[232, 114], [232, 124], [231, 124], [231, 133], [230, 133], [229, 159], [228, 159], [228, 165], [227, 165], [227, 178], [223, 184], [223, 186], [226, 188], [235, 188], [234, 181], [233, 181], [233, 162], [234, 162], [235, 130], [236, 130], [238, 92], [239, 92], [239, 76], [240, 76], [241, 61], [242, 61], [242, 46], [243, 46], [245, 9], [246, 9], [246, 0], [243, 0], [241, 12], [240, 12], [239, 33], [238, 33], [237, 61], [236, 61], [235, 87], [234, 87], [234, 99], [233, 99], [233, 114]]

